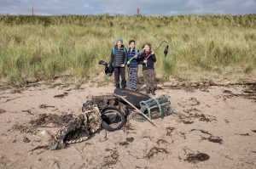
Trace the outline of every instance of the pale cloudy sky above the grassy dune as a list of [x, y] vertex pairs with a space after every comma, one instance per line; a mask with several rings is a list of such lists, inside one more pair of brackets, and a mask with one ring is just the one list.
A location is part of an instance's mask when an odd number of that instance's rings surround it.
[[0, 0], [0, 14], [256, 14], [256, 0]]

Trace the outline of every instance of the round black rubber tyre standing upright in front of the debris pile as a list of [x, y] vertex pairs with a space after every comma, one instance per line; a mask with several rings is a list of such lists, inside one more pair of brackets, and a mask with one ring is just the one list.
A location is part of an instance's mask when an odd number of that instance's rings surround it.
[[[107, 130], [108, 132], [114, 132], [116, 130], [121, 129], [125, 125], [125, 115], [117, 108], [115, 107], [106, 107], [102, 109], [102, 128]], [[116, 119], [114, 121], [106, 121], [106, 115], [110, 115], [111, 113], [115, 113]], [[119, 122], [119, 125], [117, 127], [111, 127], [110, 124]]]

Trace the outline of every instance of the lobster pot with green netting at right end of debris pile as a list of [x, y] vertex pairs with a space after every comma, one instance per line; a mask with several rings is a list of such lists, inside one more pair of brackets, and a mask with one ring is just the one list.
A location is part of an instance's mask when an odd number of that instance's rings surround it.
[[141, 110], [144, 114], [148, 115], [150, 119], [164, 118], [164, 116], [173, 113], [169, 98], [169, 96], [161, 95], [156, 99], [152, 98], [147, 101], [141, 101]]

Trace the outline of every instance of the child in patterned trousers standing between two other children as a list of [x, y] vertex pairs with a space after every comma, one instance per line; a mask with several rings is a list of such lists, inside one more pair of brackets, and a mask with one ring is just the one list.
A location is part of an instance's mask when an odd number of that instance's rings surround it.
[[130, 89], [136, 91], [137, 89], [137, 70], [139, 64], [139, 51], [135, 48], [135, 41], [129, 41], [129, 49], [128, 49], [128, 79], [130, 84]]

